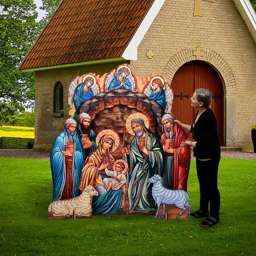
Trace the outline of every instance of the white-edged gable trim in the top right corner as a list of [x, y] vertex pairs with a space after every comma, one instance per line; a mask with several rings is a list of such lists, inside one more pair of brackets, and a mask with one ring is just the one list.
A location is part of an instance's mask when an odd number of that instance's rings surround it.
[[247, 28], [249, 29], [254, 42], [256, 43], [256, 13], [250, 0], [233, 0], [241, 14]]

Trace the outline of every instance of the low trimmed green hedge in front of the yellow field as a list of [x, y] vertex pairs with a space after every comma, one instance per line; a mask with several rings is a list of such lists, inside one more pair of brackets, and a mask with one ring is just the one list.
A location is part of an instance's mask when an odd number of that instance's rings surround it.
[[0, 137], [0, 148], [25, 149], [29, 148], [29, 142], [34, 141], [30, 138]]

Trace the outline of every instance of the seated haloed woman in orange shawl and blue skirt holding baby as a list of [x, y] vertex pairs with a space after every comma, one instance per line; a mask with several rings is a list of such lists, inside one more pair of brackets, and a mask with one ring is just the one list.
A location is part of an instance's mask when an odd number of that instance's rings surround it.
[[111, 152], [119, 147], [120, 139], [118, 134], [112, 130], [101, 131], [96, 139], [97, 149], [93, 151], [86, 159], [81, 174], [79, 189], [81, 191], [88, 185], [92, 185], [99, 193], [92, 198], [93, 213], [119, 212], [122, 205], [122, 190], [110, 189], [107, 192], [103, 178], [109, 178], [105, 170], [113, 171], [115, 162]]

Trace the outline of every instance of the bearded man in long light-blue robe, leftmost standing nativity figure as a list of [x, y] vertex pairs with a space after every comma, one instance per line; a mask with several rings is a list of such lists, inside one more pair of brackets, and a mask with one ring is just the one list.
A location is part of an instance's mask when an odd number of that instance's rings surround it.
[[53, 201], [81, 194], [79, 182], [85, 162], [83, 144], [76, 134], [75, 119], [66, 119], [63, 126], [65, 130], [55, 139], [50, 154]]

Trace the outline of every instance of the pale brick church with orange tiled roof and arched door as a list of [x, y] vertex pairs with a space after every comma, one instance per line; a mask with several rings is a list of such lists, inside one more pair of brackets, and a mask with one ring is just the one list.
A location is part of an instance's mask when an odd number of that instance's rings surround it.
[[252, 151], [256, 14], [249, 0], [62, 0], [18, 67], [36, 77], [34, 148], [50, 150], [63, 130], [76, 76], [124, 64], [141, 79], [167, 79], [182, 123], [195, 117], [194, 91], [210, 90], [221, 146]]

